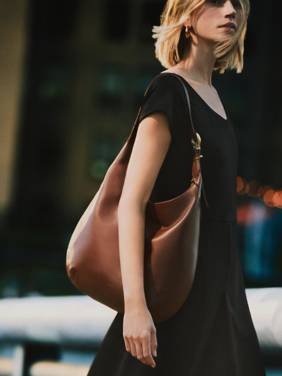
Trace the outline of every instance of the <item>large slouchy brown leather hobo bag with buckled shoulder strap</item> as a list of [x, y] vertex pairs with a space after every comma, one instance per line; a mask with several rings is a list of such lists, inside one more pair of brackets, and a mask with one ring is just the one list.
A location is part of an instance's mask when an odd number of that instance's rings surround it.
[[[193, 180], [180, 196], [159, 203], [149, 201], [146, 208], [144, 291], [155, 323], [172, 317], [183, 305], [191, 290], [197, 264], [202, 191], [200, 136], [194, 131], [188, 92], [183, 82], [182, 85], [190, 115]], [[80, 218], [67, 250], [67, 273], [74, 286], [121, 313], [124, 313], [124, 296], [118, 245], [118, 203], [139, 114], [129, 139]]]

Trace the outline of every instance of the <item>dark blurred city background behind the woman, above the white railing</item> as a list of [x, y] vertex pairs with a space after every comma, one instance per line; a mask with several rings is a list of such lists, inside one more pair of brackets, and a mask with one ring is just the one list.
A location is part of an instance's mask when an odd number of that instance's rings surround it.
[[[164, 5], [0, 1], [0, 297], [80, 294], [68, 241], [163, 70], [151, 30]], [[238, 141], [246, 287], [282, 286], [281, 10], [251, 1], [243, 72], [213, 77]]]

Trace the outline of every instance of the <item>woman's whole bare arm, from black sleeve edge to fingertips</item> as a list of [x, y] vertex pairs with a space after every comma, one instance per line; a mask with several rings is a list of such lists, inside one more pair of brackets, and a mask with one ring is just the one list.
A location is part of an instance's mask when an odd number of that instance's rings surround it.
[[169, 120], [164, 112], [154, 112], [139, 124], [118, 206], [124, 342], [127, 351], [152, 367], [157, 340], [144, 294], [145, 211], [170, 141]]

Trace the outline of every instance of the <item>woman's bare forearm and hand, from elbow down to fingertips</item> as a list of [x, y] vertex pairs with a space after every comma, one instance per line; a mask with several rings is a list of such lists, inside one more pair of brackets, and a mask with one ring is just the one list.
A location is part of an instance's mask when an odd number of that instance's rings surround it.
[[[124, 197], [124, 196], [122, 196]], [[123, 338], [126, 350], [152, 367], [157, 356], [156, 327], [144, 294], [145, 209], [138, 201], [121, 199], [118, 208], [120, 264], [124, 291]]]

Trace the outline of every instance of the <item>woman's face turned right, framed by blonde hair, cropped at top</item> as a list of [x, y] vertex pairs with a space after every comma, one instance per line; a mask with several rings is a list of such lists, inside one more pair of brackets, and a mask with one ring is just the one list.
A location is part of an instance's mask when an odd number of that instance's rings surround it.
[[243, 11], [239, 1], [206, 0], [190, 22], [198, 39], [218, 42], [232, 38], [242, 20]]

